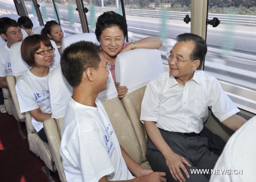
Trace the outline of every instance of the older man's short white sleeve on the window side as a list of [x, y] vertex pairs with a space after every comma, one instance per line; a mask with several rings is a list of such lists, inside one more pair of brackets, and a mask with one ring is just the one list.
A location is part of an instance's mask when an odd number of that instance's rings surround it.
[[222, 122], [239, 112], [239, 109], [223, 91], [220, 82], [216, 78], [212, 80], [210, 85], [208, 106], [211, 107], [215, 117]]

